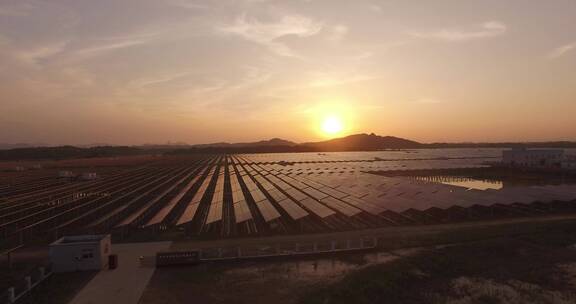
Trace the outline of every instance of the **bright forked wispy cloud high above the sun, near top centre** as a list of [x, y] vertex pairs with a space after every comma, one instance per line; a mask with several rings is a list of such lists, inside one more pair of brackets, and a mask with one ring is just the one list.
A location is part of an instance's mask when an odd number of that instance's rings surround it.
[[277, 55], [293, 57], [296, 56], [293, 50], [278, 39], [287, 36], [310, 37], [318, 34], [322, 28], [322, 23], [301, 15], [285, 15], [275, 23], [264, 23], [242, 15], [234, 24], [220, 27], [219, 30], [263, 45]]

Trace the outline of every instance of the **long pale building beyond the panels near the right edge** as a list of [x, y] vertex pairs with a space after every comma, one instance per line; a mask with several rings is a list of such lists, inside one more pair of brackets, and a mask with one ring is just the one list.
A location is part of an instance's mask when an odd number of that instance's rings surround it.
[[502, 163], [514, 168], [561, 169], [564, 160], [561, 149], [515, 148], [502, 152]]

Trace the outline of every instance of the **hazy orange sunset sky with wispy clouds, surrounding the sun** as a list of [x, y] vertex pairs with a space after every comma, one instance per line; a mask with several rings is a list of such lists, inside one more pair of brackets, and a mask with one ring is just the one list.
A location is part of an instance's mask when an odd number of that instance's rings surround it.
[[573, 0], [2, 1], [0, 142], [576, 140], [575, 28]]

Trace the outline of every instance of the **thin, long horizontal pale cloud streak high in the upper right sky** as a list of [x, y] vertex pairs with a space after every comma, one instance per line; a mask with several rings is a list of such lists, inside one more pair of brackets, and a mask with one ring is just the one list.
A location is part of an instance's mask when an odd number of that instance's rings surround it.
[[469, 41], [474, 39], [492, 38], [505, 34], [508, 26], [499, 21], [488, 21], [480, 25], [480, 29], [464, 31], [458, 29], [441, 29], [431, 32], [413, 32], [411, 36], [416, 38], [441, 40], [441, 41]]

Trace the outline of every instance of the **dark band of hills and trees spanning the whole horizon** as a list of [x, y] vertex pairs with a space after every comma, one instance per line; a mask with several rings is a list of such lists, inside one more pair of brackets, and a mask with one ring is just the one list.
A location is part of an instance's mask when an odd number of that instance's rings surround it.
[[190, 153], [286, 153], [286, 152], [339, 152], [378, 151], [386, 149], [442, 149], [442, 148], [576, 148], [576, 142], [540, 143], [432, 143], [423, 144], [394, 136], [355, 134], [319, 142], [295, 143], [272, 138], [246, 143], [212, 143], [188, 145], [186, 143], [141, 146], [97, 147], [21, 147], [0, 150], [0, 160], [40, 160], [112, 157], [142, 154], [190, 154]]

